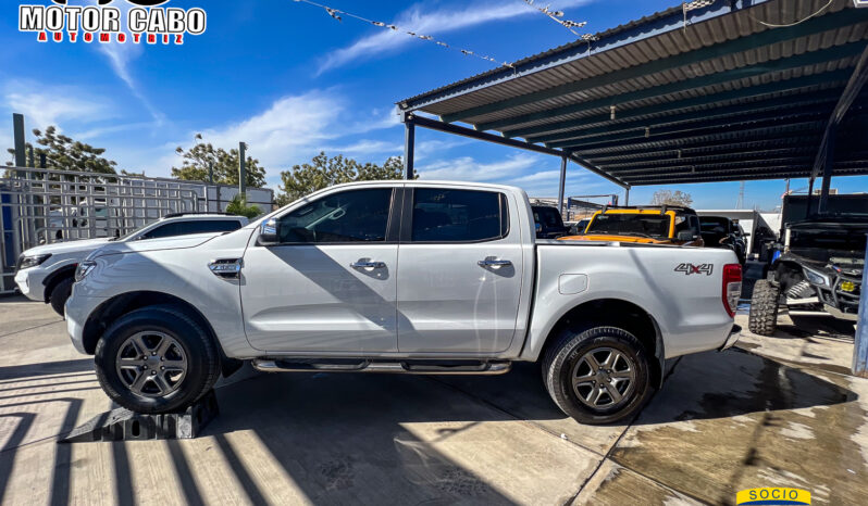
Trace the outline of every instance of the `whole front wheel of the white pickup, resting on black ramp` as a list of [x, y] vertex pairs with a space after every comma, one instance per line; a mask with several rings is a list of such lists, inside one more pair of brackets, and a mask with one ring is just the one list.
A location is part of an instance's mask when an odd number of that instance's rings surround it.
[[213, 385], [220, 356], [210, 336], [173, 306], [150, 306], [119, 318], [96, 349], [102, 390], [137, 413], [183, 410]]

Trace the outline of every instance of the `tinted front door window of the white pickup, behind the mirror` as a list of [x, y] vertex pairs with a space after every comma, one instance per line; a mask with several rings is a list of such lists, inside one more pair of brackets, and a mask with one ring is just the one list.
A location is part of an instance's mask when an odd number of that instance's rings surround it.
[[281, 242], [382, 242], [392, 188], [334, 193], [281, 218]]

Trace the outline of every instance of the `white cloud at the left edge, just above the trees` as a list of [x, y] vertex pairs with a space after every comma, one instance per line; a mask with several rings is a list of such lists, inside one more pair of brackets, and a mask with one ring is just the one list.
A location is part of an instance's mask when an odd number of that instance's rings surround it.
[[104, 99], [88, 97], [70, 87], [46, 87], [28, 81], [9, 81], [3, 87], [3, 105], [24, 114], [29, 131], [59, 125], [64, 119], [91, 123], [113, 115]]

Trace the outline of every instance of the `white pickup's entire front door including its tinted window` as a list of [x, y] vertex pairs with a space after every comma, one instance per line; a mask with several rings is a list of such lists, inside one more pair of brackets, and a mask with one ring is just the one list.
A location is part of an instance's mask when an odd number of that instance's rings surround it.
[[338, 354], [397, 350], [392, 201], [390, 186], [335, 191], [280, 216], [280, 245], [251, 243], [240, 292], [253, 347]]

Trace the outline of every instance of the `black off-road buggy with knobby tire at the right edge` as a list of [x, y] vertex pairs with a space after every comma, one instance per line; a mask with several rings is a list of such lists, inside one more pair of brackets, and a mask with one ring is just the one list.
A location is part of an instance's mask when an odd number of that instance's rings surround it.
[[781, 304], [857, 319], [868, 214], [814, 217], [786, 226], [767, 279], [754, 286], [748, 327], [771, 336]]

